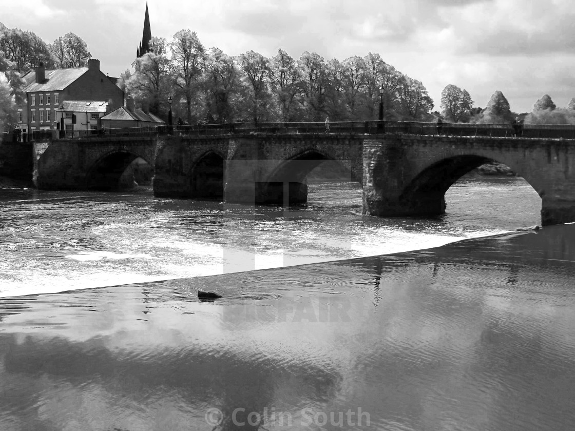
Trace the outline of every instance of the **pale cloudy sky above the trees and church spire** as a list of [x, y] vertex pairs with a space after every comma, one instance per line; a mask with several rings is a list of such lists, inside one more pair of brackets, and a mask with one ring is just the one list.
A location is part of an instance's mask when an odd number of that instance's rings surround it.
[[[141, 40], [145, 0], [0, 0], [0, 21], [47, 43], [74, 32], [102, 71], [118, 76]], [[439, 110], [447, 84], [485, 107], [496, 90], [516, 112], [543, 94], [557, 106], [575, 97], [572, 0], [150, 0], [152, 35], [183, 28], [206, 48], [229, 55], [258, 51], [326, 60], [378, 52], [419, 79]]]

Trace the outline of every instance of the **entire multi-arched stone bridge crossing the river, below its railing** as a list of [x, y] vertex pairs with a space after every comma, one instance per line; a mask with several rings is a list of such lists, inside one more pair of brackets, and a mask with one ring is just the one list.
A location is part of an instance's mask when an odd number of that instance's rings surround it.
[[499, 161], [542, 198], [542, 224], [575, 221], [575, 140], [412, 134], [243, 134], [106, 137], [35, 144], [39, 188], [117, 187], [131, 161], [154, 166], [158, 197], [289, 205], [306, 177], [338, 163], [363, 186], [363, 211], [380, 217], [442, 214], [462, 175]]

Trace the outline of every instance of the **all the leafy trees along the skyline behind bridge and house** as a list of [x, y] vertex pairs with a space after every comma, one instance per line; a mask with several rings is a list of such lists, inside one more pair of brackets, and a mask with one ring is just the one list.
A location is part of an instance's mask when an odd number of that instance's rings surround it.
[[[343, 61], [315, 52], [298, 59], [282, 49], [268, 58], [248, 51], [232, 57], [206, 49], [195, 32], [181, 30], [171, 40], [152, 38], [151, 52], [133, 61], [120, 79], [122, 90], [166, 118], [168, 97], [174, 118], [187, 124], [269, 121], [364, 121], [378, 118], [380, 88], [385, 120], [508, 123], [516, 117], [532, 124], [575, 124], [575, 98], [558, 108], [549, 95], [531, 113], [511, 111], [496, 91], [484, 109], [474, 107], [466, 90], [449, 84], [440, 112], [425, 86], [385, 63], [378, 53]], [[85, 41], [68, 32], [46, 44], [33, 32], [0, 22], [0, 123], [14, 122], [21, 103], [18, 72], [36, 67], [84, 67], [91, 54]], [[1, 124], [0, 124], [1, 125]]]

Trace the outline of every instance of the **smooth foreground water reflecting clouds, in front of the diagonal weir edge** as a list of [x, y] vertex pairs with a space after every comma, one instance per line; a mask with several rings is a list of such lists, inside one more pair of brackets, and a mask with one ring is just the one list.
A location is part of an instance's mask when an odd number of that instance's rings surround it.
[[[360, 407], [370, 425], [343, 429], [569, 429], [574, 240], [2, 299], [0, 429], [319, 429], [305, 412]], [[248, 423], [271, 409], [292, 424]]]

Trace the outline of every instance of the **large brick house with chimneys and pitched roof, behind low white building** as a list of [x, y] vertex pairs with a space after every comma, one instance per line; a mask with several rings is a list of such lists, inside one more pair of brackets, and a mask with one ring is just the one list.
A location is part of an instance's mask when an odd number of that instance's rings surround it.
[[109, 109], [122, 106], [124, 93], [100, 71], [99, 60], [88, 60], [88, 67], [45, 70], [36, 67], [22, 76], [26, 105], [18, 109], [18, 125], [25, 132], [56, 129], [65, 101], [106, 101]]

